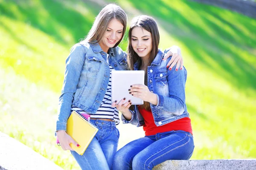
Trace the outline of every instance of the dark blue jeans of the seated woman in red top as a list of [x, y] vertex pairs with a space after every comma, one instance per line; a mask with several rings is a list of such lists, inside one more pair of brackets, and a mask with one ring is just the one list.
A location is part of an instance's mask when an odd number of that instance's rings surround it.
[[113, 158], [113, 170], [151, 170], [166, 160], [188, 160], [194, 150], [193, 136], [172, 130], [134, 140]]

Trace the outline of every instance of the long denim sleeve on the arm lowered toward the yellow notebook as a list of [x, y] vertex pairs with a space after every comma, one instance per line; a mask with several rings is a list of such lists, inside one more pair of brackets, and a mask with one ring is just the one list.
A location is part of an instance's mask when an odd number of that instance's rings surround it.
[[70, 116], [73, 96], [76, 93], [76, 86], [85, 61], [85, 48], [76, 44], [71, 48], [66, 59], [66, 69], [61, 96], [58, 103], [58, 119], [56, 130], [67, 130], [67, 119]]

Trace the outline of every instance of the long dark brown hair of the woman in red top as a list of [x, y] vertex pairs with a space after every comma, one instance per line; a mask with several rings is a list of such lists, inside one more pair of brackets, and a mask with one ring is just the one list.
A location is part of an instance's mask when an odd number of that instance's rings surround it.
[[[149, 54], [149, 61], [148, 61], [148, 66], [153, 62], [154, 58], [157, 56], [158, 52], [158, 45], [160, 41], [160, 36], [159, 36], [159, 31], [157, 28], [157, 23], [156, 21], [147, 15], [141, 15], [138, 17], [134, 17], [131, 21], [131, 26], [129, 30], [129, 41], [128, 41], [128, 57], [127, 57], [127, 62], [130, 70], [134, 70], [134, 63], [139, 62], [139, 68], [141, 65], [141, 58], [138, 56], [138, 54], [133, 50], [131, 46], [131, 31], [135, 27], [140, 27], [145, 29], [146, 31], [150, 32], [152, 35], [152, 51]], [[145, 85], [148, 85], [148, 73], [146, 71], [145, 73]], [[150, 110], [150, 104], [149, 102], [144, 102], [143, 105], [141, 105], [141, 108], [145, 108], [147, 111]]]

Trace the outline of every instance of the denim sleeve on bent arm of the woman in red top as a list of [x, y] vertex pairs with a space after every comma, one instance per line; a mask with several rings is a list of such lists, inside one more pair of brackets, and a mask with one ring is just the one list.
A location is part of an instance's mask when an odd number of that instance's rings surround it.
[[157, 94], [157, 105], [151, 109], [162, 109], [172, 114], [181, 115], [185, 111], [185, 75], [184, 69], [167, 71], [169, 97]]

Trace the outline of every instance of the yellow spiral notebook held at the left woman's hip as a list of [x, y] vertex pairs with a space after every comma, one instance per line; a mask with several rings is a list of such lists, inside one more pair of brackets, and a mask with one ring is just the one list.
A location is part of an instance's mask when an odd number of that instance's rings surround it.
[[80, 146], [70, 144], [70, 147], [78, 154], [83, 155], [84, 151], [98, 132], [98, 128], [92, 125], [80, 113], [73, 111], [67, 119], [67, 134], [70, 135]]

